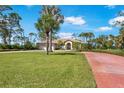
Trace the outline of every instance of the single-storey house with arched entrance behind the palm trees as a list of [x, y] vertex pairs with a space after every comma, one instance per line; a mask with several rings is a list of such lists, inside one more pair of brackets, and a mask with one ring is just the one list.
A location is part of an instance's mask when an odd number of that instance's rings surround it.
[[[82, 43], [80, 40], [77, 40], [77, 39], [57, 39], [52, 41], [52, 50], [56, 50], [58, 48], [59, 41], [63, 42], [63, 45], [61, 46], [61, 48], [64, 50], [73, 50], [74, 42]], [[41, 50], [46, 50], [46, 41], [37, 43], [37, 46]]]

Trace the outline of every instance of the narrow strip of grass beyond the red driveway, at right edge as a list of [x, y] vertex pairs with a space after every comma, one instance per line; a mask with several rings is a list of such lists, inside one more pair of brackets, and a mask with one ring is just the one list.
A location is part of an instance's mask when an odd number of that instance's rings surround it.
[[95, 49], [94, 52], [103, 52], [103, 53], [109, 53], [119, 56], [124, 56], [124, 50], [123, 49]]

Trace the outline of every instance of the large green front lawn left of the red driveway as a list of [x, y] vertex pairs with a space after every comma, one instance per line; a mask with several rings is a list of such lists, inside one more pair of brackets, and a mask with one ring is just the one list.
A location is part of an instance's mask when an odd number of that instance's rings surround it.
[[0, 87], [96, 87], [84, 55], [0, 53]]

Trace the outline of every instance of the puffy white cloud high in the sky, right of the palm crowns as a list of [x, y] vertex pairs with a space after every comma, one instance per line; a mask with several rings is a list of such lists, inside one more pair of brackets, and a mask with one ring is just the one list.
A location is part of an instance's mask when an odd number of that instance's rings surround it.
[[65, 22], [73, 25], [84, 25], [86, 21], [82, 17], [65, 17]]

